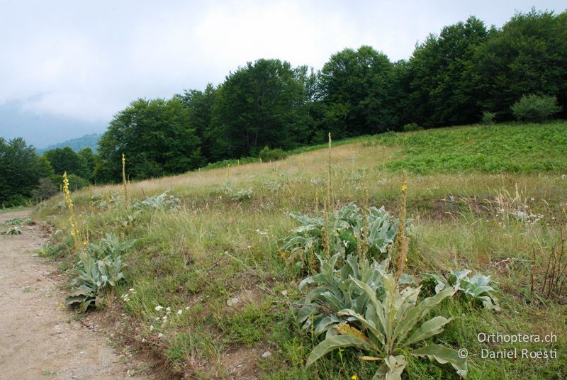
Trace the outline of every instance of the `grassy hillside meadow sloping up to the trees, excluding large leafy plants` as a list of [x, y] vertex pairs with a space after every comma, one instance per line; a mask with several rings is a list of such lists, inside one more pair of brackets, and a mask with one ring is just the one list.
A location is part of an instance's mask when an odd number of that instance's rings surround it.
[[[498, 284], [501, 311], [466, 302], [439, 310], [454, 319], [437, 337], [468, 350], [468, 379], [567, 373], [566, 296], [539, 291], [567, 216], [566, 136], [567, 123], [467, 126], [359, 138], [332, 149], [330, 208], [354, 201], [397, 213], [400, 170], [408, 170], [415, 235], [406, 272], [420, 278], [468, 268]], [[169, 191], [179, 208], [135, 211], [125, 206], [121, 186], [72, 194], [90, 242], [110, 232], [136, 240], [126, 281], [106, 297], [114, 300], [108, 313], [125, 313], [130, 342], [191, 379], [371, 379], [378, 364], [361, 362], [354, 349], [327, 354], [306, 370], [320, 338], [291, 318], [305, 274], [286, 265], [281, 239], [298, 226], [289, 213], [321, 215], [328, 155], [312, 150], [128, 185], [131, 205]], [[45, 253], [72, 275], [76, 256], [62, 201], [44, 203], [37, 215], [62, 230]], [[486, 343], [478, 333], [554, 333], [557, 342]], [[513, 348], [557, 350], [558, 359], [481, 357], [482, 349]], [[459, 378], [449, 364], [410, 356], [404, 376]]]

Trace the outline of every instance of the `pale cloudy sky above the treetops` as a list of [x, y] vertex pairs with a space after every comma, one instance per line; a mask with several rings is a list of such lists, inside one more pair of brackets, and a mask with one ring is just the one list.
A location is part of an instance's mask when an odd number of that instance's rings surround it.
[[344, 47], [391, 60], [443, 26], [502, 26], [534, 1], [0, 0], [0, 137], [45, 147], [102, 133], [137, 98], [220, 84], [246, 62], [320, 69]]

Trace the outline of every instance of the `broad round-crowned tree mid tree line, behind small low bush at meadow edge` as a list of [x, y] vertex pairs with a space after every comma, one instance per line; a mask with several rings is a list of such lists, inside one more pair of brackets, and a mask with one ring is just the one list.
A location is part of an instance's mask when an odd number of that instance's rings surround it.
[[257, 155], [265, 145], [289, 149], [307, 131], [301, 71], [281, 60], [248, 62], [231, 72], [218, 89], [213, 127], [218, 158]]

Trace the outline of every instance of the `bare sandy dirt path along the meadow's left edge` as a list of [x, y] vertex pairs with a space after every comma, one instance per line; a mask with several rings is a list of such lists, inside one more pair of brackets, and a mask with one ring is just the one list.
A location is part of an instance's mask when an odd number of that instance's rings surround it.
[[[0, 213], [0, 223], [29, 214]], [[65, 294], [52, 276], [57, 268], [33, 256], [43, 233], [35, 225], [21, 229], [21, 235], [0, 235], [0, 379], [110, 380], [137, 373], [142, 364], [116, 353], [96, 328], [64, 308]]]

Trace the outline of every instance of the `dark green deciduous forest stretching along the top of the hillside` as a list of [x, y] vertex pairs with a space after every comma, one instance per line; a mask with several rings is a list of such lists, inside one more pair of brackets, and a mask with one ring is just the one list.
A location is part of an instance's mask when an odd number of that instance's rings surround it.
[[336, 52], [320, 70], [259, 59], [222, 84], [132, 101], [113, 117], [96, 155], [58, 147], [38, 156], [21, 138], [0, 138], [0, 204], [56, 194], [63, 172], [72, 190], [116, 183], [123, 154], [128, 179], [140, 180], [316, 145], [328, 133], [339, 140], [566, 118], [566, 83], [567, 12], [535, 9], [501, 28], [471, 16], [397, 62], [370, 46]]

